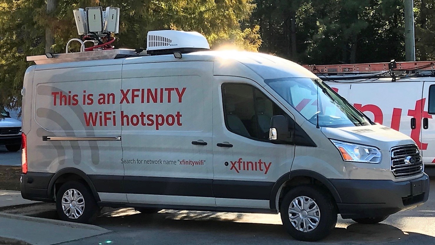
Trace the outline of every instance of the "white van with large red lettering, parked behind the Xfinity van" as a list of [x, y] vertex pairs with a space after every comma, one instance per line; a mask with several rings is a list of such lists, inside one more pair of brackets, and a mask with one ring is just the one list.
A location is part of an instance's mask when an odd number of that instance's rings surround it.
[[435, 76], [330, 79], [326, 83], [372, 121], [410, 136], [425, 165], [435, 164]]

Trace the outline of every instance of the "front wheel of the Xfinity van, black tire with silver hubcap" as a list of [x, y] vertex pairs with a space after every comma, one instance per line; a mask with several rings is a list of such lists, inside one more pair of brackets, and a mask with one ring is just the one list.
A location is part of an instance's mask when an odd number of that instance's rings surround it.
[[[310, 213], [300, 212], [301, 215], [297, 215], [295, 211], [298, 209], [298, 206], [294, 205], [295, 203], [292, 203], [293, 201], [299, 204], [301, 201], [307, 201], [305, 205], [308, 204], [308, 208], [303, 206], [302, 208], [309, 210], [310, 208], [315, 208], [313, 205], [317, 205], [318, 211], [311, 211]], [[288, 234], [299, 241], [318, 241], [329, 235], [337, 223], [337, 209], [334, 203], [331, 195], [328, 195], [326, 191], [314, 185], [300, 185], [294, 187], [288, 191], [281, 203], [280, 213], [282, 224]], [[290, 208], [293, 210], [291, 215], [289, 214]], [[314, 218], [310, 218], [308, 215]], [[290, 221], [290, 216], [293, 217], [293, 222]], [[303, 216], [305, 216], [305, 218], [303, 218]], [[297, 217], [299, 217], [299, 219]], [[298, 220], [301, 220], [300, 225], [298, 225]], [[302, 231], [296, 229], [296, 226], [302, 229]], [[313, 226], [315, 227], [313, 228]]]

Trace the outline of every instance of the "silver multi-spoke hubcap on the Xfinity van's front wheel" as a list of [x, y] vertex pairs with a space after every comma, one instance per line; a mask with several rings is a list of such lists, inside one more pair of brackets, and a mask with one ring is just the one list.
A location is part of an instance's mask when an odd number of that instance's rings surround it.
[[319, 225], [320, 209], [313, 199], [300, 196], [291, 201], [288, 218], [298, 231], [311, 232]]

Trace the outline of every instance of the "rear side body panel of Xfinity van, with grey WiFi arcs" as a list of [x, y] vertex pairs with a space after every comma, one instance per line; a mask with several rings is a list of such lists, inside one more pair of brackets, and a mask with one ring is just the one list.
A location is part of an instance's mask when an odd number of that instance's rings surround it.
[[[100, 61], [85, 61], [35, 71], [32, 130], [27, 135], [32, 142], [27, 149], [29, 171], [77, 168], [90, 177], [101, 201], [127, 201], [121, 127], [116, 120], [121, 62], [107, 60], [107, 65], [96, 66]], [[25, 121], [29, 117], [26, 114]]]

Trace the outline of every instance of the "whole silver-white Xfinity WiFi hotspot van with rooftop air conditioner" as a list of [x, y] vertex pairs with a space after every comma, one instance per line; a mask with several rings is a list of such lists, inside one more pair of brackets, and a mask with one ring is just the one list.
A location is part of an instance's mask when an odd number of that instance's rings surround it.
[[[281, 213], [304, 241], [328, 235], [337, 214], [373, 224], [428, 199], [415, 142], [305, 68], [198, 51], [200, 34], [169, 32], [153, 34], [168, 46], [148, 42], [153, 55], [28, 57], [23, 198], [56, 202], [70, 222], [102, 206]], [[298, 110], [304, 98], [314, 107]]]

